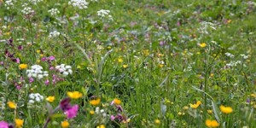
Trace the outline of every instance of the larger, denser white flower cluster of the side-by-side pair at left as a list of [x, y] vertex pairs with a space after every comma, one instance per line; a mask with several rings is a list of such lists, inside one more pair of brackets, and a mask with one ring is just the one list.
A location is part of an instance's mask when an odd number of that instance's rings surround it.
[[31, 70], [26, 70], [27, 77], [29, 78], [43, 79], [49, 75], [47, 71], [42, 71], [43, 67], [39, 65], [33, 65], [31, 68]]

